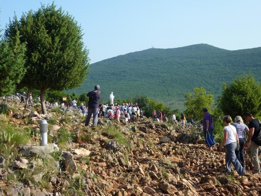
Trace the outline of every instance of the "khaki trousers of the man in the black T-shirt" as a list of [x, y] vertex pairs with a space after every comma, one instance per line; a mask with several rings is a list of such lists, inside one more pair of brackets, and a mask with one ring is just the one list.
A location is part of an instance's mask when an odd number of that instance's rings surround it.
[[250, 148], [247, 148], [247, 154], [251, 158], [251, 162], [253, 164], [253, 170], [254, 174], [260, 174], [260, 164], [258, 160], [258, 148], [259, 145], [257, 145], [255, 142], [251, 141]]

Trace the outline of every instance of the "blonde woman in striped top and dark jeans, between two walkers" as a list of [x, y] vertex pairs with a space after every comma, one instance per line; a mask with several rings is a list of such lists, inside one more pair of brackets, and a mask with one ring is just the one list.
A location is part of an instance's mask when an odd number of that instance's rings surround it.
[[241, 163], [243, 168], [245, 168], [245, 166], [246, 166], [245, 157], [244, 157], [244, 144], [245, 144], [245, 138], [246, 138], [245, 131], [247, 131], [249, 133], [249, 129], [248, 129], [247, 125], [244, 124], [241, 116], [235, 117], [235, 123], [233, 124], [233, 126], [237, 130], [239, 146], [240, 146], [240, 149], [238, 151], [235, 151], [235, 154], [237, 156], [238, 161]]

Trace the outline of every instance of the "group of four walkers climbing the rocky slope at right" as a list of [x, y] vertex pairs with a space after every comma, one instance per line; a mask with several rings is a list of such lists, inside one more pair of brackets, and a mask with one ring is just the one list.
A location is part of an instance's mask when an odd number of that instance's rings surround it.
[[[207, 108], [203, 108], [203, 132], [206, 138], [207, 135], [213, 137], [213, 117], [209, 114]], [[220, 145], [220, 149], [226, 147], [226, 170], [225, 173], [231, 173], [231, 163], [235, 167], [235, 170], [239, 175], [247, 175], [245, 171], [245, 159], [244, 159], [244, 148], [251, 158], [253, 164], [253, 173], [260, 174], [260, 162], [258, 159], [258, 148], [261, 146], [261, 123], [255, 119], [251, 113], [245, 114], [245, 119], [249, 123], [247, 127], [244, 124], [241, 116], [235, 117], [235, 123], [232, 123], [231, 116], [227, 115], [223, 117], [223, 141]], [[249, 134], [248, 139], [246, 138], [247, 132]], [[211, 148], [210, 148], [211, 150]]]

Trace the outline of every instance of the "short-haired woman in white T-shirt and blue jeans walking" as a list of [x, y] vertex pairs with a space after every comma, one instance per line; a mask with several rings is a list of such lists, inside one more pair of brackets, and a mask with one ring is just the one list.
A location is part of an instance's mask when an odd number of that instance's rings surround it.
[[237, 147], [238, 140], [238, 134], [236, 131], [236, 128], [232, 126], [230, 123], [232, 122], [231, 116], [224, 116], [223, 118], [224, 122], [224, 133], [223, 133], [223, 141], [220, 146], [220, 150], [222, 149], [222, 146], [226, 145], [226, 170], [225, 172], [231, 173], [231, 163], [235, 167], [235, 170], [237, 170], [239, 175], [245, 175], [246, 171], [238, 161], [236, 155], [235, 155], [235, 149]]

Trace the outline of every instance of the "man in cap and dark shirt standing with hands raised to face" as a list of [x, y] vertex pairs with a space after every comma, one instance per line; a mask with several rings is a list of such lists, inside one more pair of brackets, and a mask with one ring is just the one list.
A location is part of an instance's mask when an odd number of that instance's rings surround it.
[[98, 113], [99, 113], [99, 99], [100, 99], [100, 86], [95, 85], [94, 90], [88, 92], [87, 97], [88, 101], [88, 114], [85, 121], [85, 126], [89, 126], [90, 118], [93, 114], [93, 125], [96, 126], [98, 122]]

